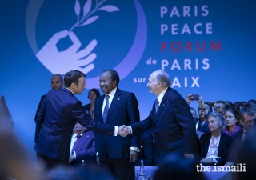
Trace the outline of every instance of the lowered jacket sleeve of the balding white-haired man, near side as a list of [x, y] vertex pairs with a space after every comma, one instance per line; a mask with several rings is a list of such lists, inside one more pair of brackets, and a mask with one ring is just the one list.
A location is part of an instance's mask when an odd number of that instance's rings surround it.
[[194, 145], [196, 144], [195, 122], [189, 106], [182, 96], [177, 96], [172, 100], [172, 110], [174, 118], [182, 127], [183, 152], [184, 154], [194, 154]]

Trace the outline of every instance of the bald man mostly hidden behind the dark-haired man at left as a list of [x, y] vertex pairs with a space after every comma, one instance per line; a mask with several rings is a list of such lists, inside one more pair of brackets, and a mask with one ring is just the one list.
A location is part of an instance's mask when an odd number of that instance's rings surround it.
[[[53, 77], [51, 77], [51, 89], [52, 90], [62, 90], [62, 86], [63, 86], [63, 78], [62, 75], [60, 74], [54, 74]], [[43, 95], [40, 99], [40, 102], [38, 104], [38, 109], [37, 112], [35, 114], [34, 117], [34, 122], [37, 122], [37, 118], [38, 118], [38, 112], [41, 109], [42, 106], [42, 102], [43, 100], [46, 98], [46, 94]]]

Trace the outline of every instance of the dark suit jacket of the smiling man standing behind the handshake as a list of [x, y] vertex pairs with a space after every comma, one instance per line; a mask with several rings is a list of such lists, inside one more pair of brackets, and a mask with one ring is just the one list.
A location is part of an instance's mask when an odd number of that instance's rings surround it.
[[[96, 98], [94, 104], [94, 121], [102, 122], [102, 104], [105, 94]], [[122, 126], [131, 125], [139, 121], [138, 101], [133, 93], [117, 89], [111, 102], [110, 109], [106, 117], [106, 125]], [[106, 136], [95, 134], [96, 152], [99, 161], [106, 159], [106, 154], [110, 158], [129, 158], [130, 147], [139, 147], [138, 137], [132, 138], [131, 134], [126, 137]]]

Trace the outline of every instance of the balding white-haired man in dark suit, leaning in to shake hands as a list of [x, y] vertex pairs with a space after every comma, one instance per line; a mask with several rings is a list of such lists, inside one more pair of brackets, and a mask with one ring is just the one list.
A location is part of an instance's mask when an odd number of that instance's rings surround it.
[[154, 71], [150, 74], [147, 86], [150, 93], [157, 96], [150, 115], [123, 130], [138, 135], [152, 128], [161, 161], [171, 155], [194, 158], [195, 150], [199, 150], [200, 146], [194, 118], [185, 99], [169, 87], [169, 74], [163, 70]]

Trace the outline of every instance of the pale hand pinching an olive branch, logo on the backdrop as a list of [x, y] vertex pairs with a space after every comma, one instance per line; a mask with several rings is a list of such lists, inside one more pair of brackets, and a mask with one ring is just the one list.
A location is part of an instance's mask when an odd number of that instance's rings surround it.
[[[37, 58], [44, 66], [46, 66], [48, 70], [50, 70], [52, 74], [66, 74], [66, 72], [70, 70], [80, 70], [87, 74], [90, 72], [90, 70], [94, 69], [94, 64], [91, 62], [95, 60], [97, 55], [91, 52], [94, 50], [95, 46], [97, 46], [97, 40], [93, 39], [85, 49], [78, 51], [82, 44], [72, 30], [74, 30], [75, 27], [86, 26], [96, 21], [99, 16], [91, 15], [98, 10], [104, 10], [106, 12], [114, 12], [119, 10], [116, 6], [112, 5], [102, 6], [102, 3], [104, 2], [106, 2], [106, 0], [101, 0], [100, 2], [96, 1], [94, 10], [91, 10], [91, 0], [87, 0], [83, 6], [82, 18], [80, 18], [81, 7], [78, 0], [76, 0], [74, 12], [78, 17], [77, 22], [69, 31], [62, 30], [55, 33], [50, 40], [46, 42], [44, 46], [42, 46], [42, 49], [38, 51], [38, 54], [36, 54]], [[59, 40], [66, 38], [67, 36], [69, 36], [70, 40], [73, 42], [73, 45], [67, 50], [58, 51], [56, 46], [57, 43]], [[86, 67], [83, 68], [82, 66]]]

